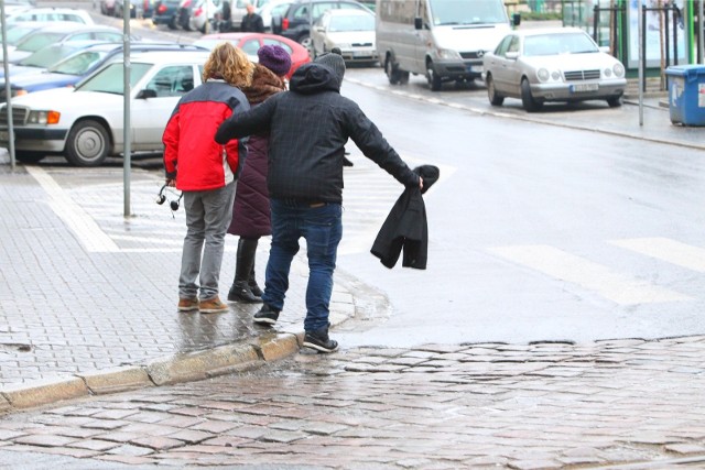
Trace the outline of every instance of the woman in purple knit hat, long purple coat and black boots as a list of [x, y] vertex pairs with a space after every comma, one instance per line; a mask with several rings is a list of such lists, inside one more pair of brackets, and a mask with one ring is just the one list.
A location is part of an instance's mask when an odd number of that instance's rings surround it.
[[[242, 88], [250, 106], [286, 89], [284, 76], [291, 68], [291, 56], [281, 46], [265, 45], [258, 52], [252, 85]], [[236, 189], [232, 221], [228, 233], [239, 236], [235, 281], [229, 302], [262, 302], [262, 289], [254, 278], [254, 254], [260, 237], [272, 234], [267, 190], [269, 134], [250, 135], [247, 160]]]

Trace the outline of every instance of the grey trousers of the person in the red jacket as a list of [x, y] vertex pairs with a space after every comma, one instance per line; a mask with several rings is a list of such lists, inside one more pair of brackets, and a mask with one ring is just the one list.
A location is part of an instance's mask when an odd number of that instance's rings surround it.
[[236, 185], [237, 182], [232, 182], [219, 189], [184, 192], [187, 231], [178, 277], [180, 298], [208, 300], [218, 295], [225, 236], [232, 219]]

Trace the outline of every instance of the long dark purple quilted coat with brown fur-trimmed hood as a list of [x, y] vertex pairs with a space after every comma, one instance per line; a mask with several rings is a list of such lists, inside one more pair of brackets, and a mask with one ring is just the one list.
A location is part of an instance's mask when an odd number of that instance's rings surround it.
[[[257, 64], [252, 86], [242, 89], [251, 106], [283, 91], [284, 83], [268, 68]], [[232, 221], [228, 233], [245, 238], [272, 234], [267, 190], [269, 135], [250, 135], [247, 142], [247, 159], [238, 177], [232, 205]]]

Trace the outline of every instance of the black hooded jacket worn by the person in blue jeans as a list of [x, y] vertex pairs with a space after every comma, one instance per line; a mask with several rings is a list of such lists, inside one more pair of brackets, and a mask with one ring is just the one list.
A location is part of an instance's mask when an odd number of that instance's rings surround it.
[[216, 142], [270, 132], [268, 188], [271, 198], [311, 203], [343, 201], [343, 161], [348, 139], [365, 156], [405, 186], [419, 186], [375, 123], [355, 101], [340, 96], [340, 79], [315, 63], [302, 65], [290, 91], [226, 120]]

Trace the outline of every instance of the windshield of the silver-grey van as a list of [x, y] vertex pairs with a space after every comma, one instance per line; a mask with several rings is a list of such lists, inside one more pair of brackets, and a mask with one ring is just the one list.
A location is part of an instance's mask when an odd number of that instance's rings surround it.
[[503, 2], [497, 0], [431, 0], [433, 24], [507, 23]]

